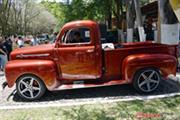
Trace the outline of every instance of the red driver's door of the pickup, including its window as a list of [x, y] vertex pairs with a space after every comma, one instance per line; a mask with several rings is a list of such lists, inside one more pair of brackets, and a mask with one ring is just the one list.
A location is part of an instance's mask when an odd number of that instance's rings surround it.
[[62, 79], [80, 80], [101, 77], [101, 54], [90, 28], [64, 31], [58, 46], [58, 64]]

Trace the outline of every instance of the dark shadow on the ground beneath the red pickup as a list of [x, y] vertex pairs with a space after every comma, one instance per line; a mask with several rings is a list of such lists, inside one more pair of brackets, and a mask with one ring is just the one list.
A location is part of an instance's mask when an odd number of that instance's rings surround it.
[[[48, 101], [66, 101], [66, 100], [81, 100], [81, 99], [98, 99], [98, 98], [127, 98], [131, 96], [150, 96], [163, 95], [180, 92], [180, 85], [174, 81], [163, 81], [159, 88], [151, 94], [139, 94], [132, 85], [117, 85], [98, 88], [84, 88], [61, 91], [47, 91], [40, 99], [33, 102], [48, 102]], [[13, 94], [13, 101], [27, 102], [22, 100], [16, 92]]]

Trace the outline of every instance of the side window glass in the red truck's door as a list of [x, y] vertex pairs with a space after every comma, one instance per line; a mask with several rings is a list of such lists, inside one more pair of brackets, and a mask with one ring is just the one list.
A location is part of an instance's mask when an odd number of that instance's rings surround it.
[[64, 44], [88, 43], [90, 41], [90, 29], [88, 28], [67, 30], [61, 40]]

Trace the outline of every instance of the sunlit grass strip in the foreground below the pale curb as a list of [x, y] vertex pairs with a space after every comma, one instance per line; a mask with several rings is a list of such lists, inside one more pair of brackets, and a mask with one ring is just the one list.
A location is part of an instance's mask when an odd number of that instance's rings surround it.
[[180, 96], [63, 108], [0, 110], [0, 120], [180, 120]]

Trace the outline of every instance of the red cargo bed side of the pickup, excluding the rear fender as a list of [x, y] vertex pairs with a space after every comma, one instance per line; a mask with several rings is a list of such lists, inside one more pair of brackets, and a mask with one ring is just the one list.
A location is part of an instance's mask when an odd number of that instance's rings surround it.
[[[163, 45], [151, 42], [125, 43], [114, 45], [115, 49], [105, 49], [104, 66], [106, 79], [123, 79], [123, 60], [134, 54], [167, 54], [176, 56], [175, 45]], [[113, 76], [113, 77], [112, 77]]]

